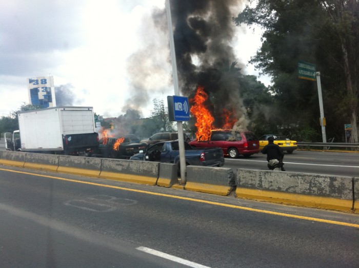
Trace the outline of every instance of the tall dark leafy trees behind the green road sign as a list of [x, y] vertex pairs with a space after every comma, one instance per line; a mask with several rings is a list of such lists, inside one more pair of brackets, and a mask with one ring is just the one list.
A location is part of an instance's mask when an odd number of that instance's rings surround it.
[[[258, 0], [234, 18], [237, 25], [255, 24], [265, 30], [262, 47], [250, 62], [272, 76], [275, 121], [298, 129], [320, 129], [316, 84], [297, 78], [297, 61], [305, 60], [321, 71], [324, 108], [333, 111], [326, 113], [329, 135], [343, 139], [340, 129], [349, 117], [356, 129], [357, 6], [357, 1], [343, 0]], [[342, 20], [328, 16], [330, 12]]]

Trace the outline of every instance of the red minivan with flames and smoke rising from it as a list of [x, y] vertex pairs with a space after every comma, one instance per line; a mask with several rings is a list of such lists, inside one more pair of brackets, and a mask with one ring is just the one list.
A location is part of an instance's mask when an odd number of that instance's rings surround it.
[[240, 154], [249, 157], [260, 152], [258, 138], [249, 131], [240, 133], [231, 130], [213, 130], [211, 140], [192, 140], [189, 144], [197, 148], [220, 147], [223, 154], [231, 158], [237, 158]]

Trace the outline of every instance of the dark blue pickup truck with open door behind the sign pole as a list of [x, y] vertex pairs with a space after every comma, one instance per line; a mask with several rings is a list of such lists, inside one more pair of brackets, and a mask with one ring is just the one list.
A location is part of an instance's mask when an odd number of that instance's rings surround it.
[[[222, 167], [224, 156], [221, 148], [193, 148], [185, 142], [186, 166]], [[175, 163], [179, 168], [178, 140], [148, 145], [144, 152], [131, 156], [130, 160]]]

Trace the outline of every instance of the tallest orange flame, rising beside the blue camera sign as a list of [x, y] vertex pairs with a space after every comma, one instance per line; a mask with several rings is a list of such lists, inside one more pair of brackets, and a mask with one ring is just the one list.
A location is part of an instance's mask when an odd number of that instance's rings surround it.
[[190, 112], [196, 118], [195, 126], [197, 127], [197, 140], [209, 140], [211, 137], [211, 130], [213, 129], [214, 117], [205, 106], [205, 101], [208, 99], [207, 93], [203, 87], [197, 87], [196, 94], [191, 102]]

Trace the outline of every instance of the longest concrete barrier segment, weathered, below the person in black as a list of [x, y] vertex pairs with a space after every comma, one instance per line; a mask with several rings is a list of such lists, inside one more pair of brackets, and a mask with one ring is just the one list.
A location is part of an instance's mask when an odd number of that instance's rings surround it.
[[351, 177], [237, 169], [236, 180], [241, 198], [342, 211], [353, 207]]

